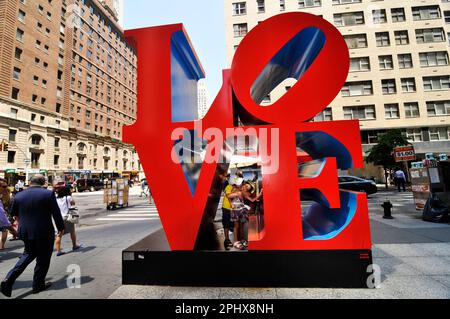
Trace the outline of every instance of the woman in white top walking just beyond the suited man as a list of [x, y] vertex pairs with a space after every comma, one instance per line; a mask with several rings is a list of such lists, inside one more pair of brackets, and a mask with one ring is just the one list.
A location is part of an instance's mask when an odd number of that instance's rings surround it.
[[58, 202], [59, 209], [61, 210], [61, 215], [64, 220], [64, 232], [61, 236], [56, 236], [55, 239], [55, 247], [56, 247], [56, 256], [62, 256], [65, 254], [64, 251], [61, 250], [61, 239], [62, 236], [69, 233], [70, 238], [72, 239], [72, 248], [73, 251], [76, 251], [81, 248], [81, 245], [77, 244], [77, 234], [75, 232], [75, 224], [67, 221], [69, 216], [70, 208], [75, 206], [75, 201], [73, 200], [70, 189], [65, 185], [60, 185], [56, 188], [56, 201]]

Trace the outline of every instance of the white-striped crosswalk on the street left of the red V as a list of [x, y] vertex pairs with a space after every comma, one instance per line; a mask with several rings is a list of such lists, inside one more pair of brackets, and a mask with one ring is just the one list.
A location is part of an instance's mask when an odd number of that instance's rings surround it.
[[110, 211], [106, 217], [97, 218], [98, 221], [145, 221], [159, 220], [155, 204], [138, 204], [115, 211]]

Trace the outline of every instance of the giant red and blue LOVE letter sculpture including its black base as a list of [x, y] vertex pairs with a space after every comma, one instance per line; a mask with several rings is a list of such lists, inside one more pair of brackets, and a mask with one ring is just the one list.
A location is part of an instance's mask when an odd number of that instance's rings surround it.
[[[359, 122], [308, 122], [346, 81], [349, 52], [339, 31], [306, 13], [260, 23], [223, 71], [223, 86], [201, 121], [197, 82], [204, 72], [183, 26], [125, 35], [138, 57], [138, 113], [123, 136], [139, 153], [164, 231], [124, 251], [124, 283], [366, 287], [372, 261], [366, 195], [339, 190], [337, 175], [363, 167]], [[261, 106], [288, 78], [298, 81]], [[229, 161], [218, 158], [233, 153], [227, 141], [246, 135], [259, 143], [264, 229], [249, 251], [220, 251], [214, 219]], [[199, 149], [185, 143], [194, 140]], [[180, 149], [190, 151], [187, 157], [205, 155], [189, 163], [181, 151], [176, 161]], [[318, 163], [315, 174], [301, 174], [308, 163], [299, 150]], [[304, 214], [303, 198], [314, 200]], [[220, 275], [243, 268], [237, 279]]]

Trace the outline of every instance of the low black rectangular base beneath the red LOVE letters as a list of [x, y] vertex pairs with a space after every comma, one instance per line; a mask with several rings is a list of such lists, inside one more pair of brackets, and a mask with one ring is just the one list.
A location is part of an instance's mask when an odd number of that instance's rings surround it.
[[160, 230], [122, 253], [124, 285], [367, 288], [370, 250], [170, 251]]

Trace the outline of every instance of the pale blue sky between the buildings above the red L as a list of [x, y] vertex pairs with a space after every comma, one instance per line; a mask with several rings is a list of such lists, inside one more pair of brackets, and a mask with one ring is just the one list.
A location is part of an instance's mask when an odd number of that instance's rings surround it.
[[223, 0], [124, 0], [124, 29], [183, 23], [206, 73], [212, 98], [226, 67]]

